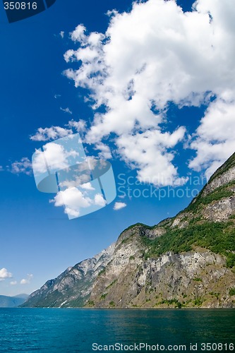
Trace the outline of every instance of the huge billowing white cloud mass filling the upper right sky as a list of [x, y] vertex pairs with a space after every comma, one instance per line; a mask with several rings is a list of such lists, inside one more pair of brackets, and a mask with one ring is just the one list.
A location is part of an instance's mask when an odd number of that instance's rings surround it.
[[[234, 109], [233, 1], [198, 0], [192, 12], [183, 13], [173, 0], [148, 0], [135, 2], [129, 13], [112, 11], [110, 16], [105, 34], [87, 34], [78, 25], [71, 33], [78, 49], [64, 55], [67, 62], [79, 63], [65, 75], [76, 87], [90, 90], [95, 117], [87, 142], [104, 143], [114, 133], [119, 155], [138, 169], [140, 180], [157, 174], [157, 185], [166, 185], [166, 180], [182, 184], [186, 179], [178, 175], [174, 151], [185, 129], [167, 131], [167, 105], [207, 104], [191, 143], [198, 154], [189, 165], [211, 172], [234, 150], [226, 124], [219, 124], [220, 131], [213, 126], [211, 133], [205, 132], [212, 121], [216, 125], [212, 115], [219, 115], [221, 104], [228, 115]], [[217, 97], [214, 102], [212, 96]], [[104, 113], [97, 112], [100, 107]]]

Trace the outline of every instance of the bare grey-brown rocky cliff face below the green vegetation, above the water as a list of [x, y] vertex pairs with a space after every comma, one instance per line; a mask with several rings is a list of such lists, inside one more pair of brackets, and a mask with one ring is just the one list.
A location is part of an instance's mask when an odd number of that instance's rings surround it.
[[[129, 244], [131, 245], [131, 244]], [[223, 256], [203, 248], [158, 258], [128, 258], [128, 247], [119, 249], [126, 264], [116, 274], [116, 255], [97, 279], [89, 306], [116, 308], [234, 307], [234, 272]], [[119, 255], [117, 255], [119, 257]]]

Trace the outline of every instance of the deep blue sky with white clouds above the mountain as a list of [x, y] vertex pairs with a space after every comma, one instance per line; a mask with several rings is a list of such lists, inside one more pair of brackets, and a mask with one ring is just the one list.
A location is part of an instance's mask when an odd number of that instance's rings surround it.
[[[11, 24], [1, 8], [0, 294], [30, 293], [129, 225], [174, 216], [234, 152], [234, 8], [177, 4], [57, 0]], [[109, 157], [113, 203], [68, 220], [37, 191], [30, 160], [55, 126]]]

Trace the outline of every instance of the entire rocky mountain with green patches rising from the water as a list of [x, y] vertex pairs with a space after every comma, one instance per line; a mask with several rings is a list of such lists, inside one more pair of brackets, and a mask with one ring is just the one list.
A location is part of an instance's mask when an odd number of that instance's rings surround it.
[[104, 262], [99, 254], [66, 270], [23, 306], [235, 307], [234, 224], [235, 153], [185, 210], [128, 227]]

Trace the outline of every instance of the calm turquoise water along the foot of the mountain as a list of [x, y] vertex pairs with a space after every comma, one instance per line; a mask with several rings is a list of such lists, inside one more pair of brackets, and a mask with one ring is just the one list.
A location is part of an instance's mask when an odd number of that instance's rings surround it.
[[0, 309], [0, 352], [193, 352], [191, 344], [235, 352], [235, 310]]

